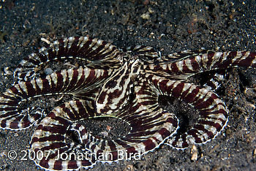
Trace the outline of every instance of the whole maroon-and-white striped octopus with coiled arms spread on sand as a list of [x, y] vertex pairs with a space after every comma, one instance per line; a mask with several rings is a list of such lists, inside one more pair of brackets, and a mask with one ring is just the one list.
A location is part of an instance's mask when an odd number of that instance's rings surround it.
[[[17, 81], [0, 95], [0, 126], [26, 129], [39, 121], [30, 151], [42, 152], [35, 163], [46, 170], [90, 168], [97, 162], [119, 160], [118, 151], [145, 154], [164, 142], [187, 148], [213, 139], [228, 121], [227, 107], [219, 96], [210, 88], [189, 83], [188, 78], [233, 66], [256, 67], [255, 57], [256, 53], [247, 51], [189, 50], [161, 56], [152, 47], [123, 51], [90, 37], [56, 40], [31, 53], [15, 69]], [[45, 72], [54, 64], [61, 67]], [[214, 77], [222, 79], [218, 73]], [[208, 80], [206, 86], [219, 86], [213, 82], [214, 78]], [[72, 98], [50, 113], [24, 105], [54, 95]], [[179, 132], [178, 118], [159, 107], [159, 96], [190, 104], [197, 110], [197, 121], [186, 132]], [[129, 132], [108, 140], [78, 123], [99, 117], [125, 121]], [[81, 153], [89, 156], [78, 159]], [[70, 157], [59, 159], [61, 154]], [[105, 158], [99, 159], [102, 154]]]

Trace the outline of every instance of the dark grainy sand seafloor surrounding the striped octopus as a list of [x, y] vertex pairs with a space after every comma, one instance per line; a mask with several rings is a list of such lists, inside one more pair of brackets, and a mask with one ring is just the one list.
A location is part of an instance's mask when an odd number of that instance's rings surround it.
[[[12, 71], [22, 58], [47, 45], [47, 40], [86, 35], [120, 48], [152, 46], [165, 55], [201, 49], [256, 51], [256, 1], [17, 0], [1, 3], [1, 92], [10, 88]], [[91, 170], [256, 170], [255, 74], [256, 69], [227, 71], [226, 80], [217, 93], [230, 110], [230, 121], [211, 142], [184, 151], [161, 145], [139, 161], [98, 163]], [[200, 79], [197, 76], [192, 80], [200, 82]], [[46, 112], [56, 106], [51, 99], [39, 101], [44, 101]], [[195, 111], [187, 104], [159, 101], [181, 118], [187, 117], [187, 124], [196, 118]], [[118, 136], [124, 130], [121, 123], [111, 120], [87, 123], [93, 134]], [[39, 170], [25, 152], [35, 128], [20, 132], [0, 130], [0, 170]], [[9, 159], [9, 151], [16, 151], [17, 159]]]

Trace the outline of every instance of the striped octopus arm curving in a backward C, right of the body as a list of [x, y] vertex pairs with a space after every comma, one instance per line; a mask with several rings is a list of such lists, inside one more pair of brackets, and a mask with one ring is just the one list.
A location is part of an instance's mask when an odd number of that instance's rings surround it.
[[187, 148], [190, 144], [207, 142], [226, 126], [227, 107], [212, 91], [193, 83], [167, 80], [153, 75], [148, 75], [148, 79], [159, 90], [159, 94], [181, 99], [199, 112], [194, 126], [187, 132], [170, 137], [167, 144], [174, 148]]

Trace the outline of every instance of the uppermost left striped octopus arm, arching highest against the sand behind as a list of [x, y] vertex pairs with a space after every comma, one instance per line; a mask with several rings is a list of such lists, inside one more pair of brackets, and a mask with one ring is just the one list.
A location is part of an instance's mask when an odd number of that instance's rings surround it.
[[24, 58], [15, 69], [14, 77], [22, 81], [39, 77], [39, 71], [54, 61], [77, 61], [80, 66], [114, 69], [121, 66], [123, 53], [100, 39], [68, 37], [51, 42], [48, 47], [40, 48], [38, 53]]

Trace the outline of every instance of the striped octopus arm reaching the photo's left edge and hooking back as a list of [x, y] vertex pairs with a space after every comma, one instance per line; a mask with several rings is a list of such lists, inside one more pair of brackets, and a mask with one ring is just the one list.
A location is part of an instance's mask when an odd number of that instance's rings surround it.
[[[0, 126], [7, 129], [24, 129], [31, 126], [41, 117], [42, 112], [39, 109], [21, 110], [20, 104], [38, 96], [71, 94], [76, 97], [88, 92], [88, 100], [91, 101], [90, 97], [95, 96], [94, 90], [108, 75], [109, 72], [103, 69], [64, 69], [61, 72], [53, 72], [45, 79], [19, 82], [0, 96]], [[83, 89], [83, 92], [78, 91], [80, 89]]]

